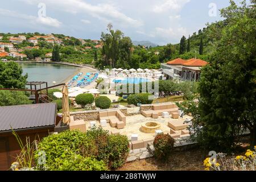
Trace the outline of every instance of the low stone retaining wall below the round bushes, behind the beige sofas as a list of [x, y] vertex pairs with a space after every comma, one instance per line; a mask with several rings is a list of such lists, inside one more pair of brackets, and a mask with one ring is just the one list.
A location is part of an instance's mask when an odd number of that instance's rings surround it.
[[100, 120], [100, 112], [112, 111], [112, 110], [120, 110], [123, 114], [127, 115], [127, 108], [76, 111], [76, 112], [71, 112], [70, 114], [71, 116], [74, 117], [75, 121], [76, 120], [93, 121], [93, 120]]

